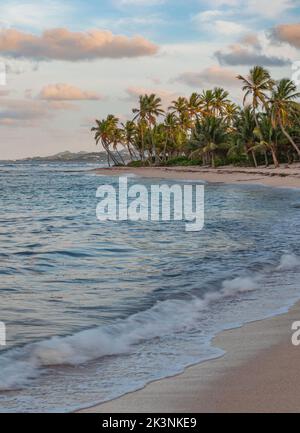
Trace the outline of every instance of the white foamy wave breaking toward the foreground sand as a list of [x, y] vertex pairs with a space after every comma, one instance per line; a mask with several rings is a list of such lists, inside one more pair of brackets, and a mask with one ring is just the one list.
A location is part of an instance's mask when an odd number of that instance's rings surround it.
[[[287, 264], [297, 266], [296, 259], [284, 255], [277, 269], [287, 269]], [[113, 324], [11, 349], [0, 357], [0, 390], [20, 388], [50, 366], [76, 366], [105, 356], [130, 353], [143, 341], [192, 330], [201, 320], [201, 312], [211, 304], [257, 290], [260, 278], [254, 275], [225, 280], [219, 291], [207, 292], [202, 298], [159, 301], [150, 309]]]

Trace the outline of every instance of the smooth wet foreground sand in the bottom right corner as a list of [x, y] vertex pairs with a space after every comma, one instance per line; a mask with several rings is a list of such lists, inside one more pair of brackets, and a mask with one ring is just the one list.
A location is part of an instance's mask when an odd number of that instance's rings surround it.
[[300, 412], [300, 347], [292, 323], [300, 301], [285, 313], [218, 333], [224, 354], [77, 413]]

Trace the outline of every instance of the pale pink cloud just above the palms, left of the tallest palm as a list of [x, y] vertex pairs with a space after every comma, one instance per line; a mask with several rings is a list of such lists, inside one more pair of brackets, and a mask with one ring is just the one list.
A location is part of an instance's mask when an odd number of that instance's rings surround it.
[[236, 87], [236, 73], [230, 69], [221, 68], [220, 66], [211, 66], [200, 72], [184, 72], [179, 75], [175, 81], [184, 83], [190, 87], [207, 87], [222, 85]]

